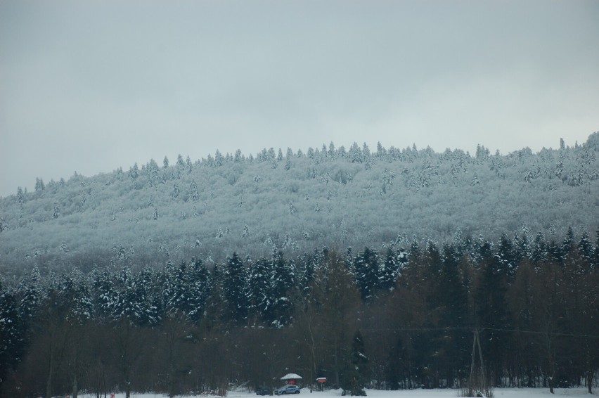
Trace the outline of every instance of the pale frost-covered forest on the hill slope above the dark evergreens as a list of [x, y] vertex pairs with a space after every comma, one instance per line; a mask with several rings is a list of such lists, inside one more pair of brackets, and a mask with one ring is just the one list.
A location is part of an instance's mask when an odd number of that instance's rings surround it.
[[560, 239], [568, 226], [592, 235], [598, 150], [599, 133], [581, 145], [507, 155], [484, 146], [470, 154], [330, 143], [37, 179], [33, 192], [0, 198], [0, 271], [139, 269], [191, 257], [211, 264], [233, 252], [290, 256], [323, 246], [384, 250], [456, 234]]

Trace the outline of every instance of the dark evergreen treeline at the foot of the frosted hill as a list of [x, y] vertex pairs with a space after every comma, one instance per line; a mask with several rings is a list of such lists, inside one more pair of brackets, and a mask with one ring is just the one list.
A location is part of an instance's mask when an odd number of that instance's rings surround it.
[[599, 232], [595, 243], [565, 236], [233, 254], [210, 267], [34, 268], [0, 287], [0, 394], [174, 396], [277, 385], [288, 371], [352, 393], [461, 387], [475, 329], [492, 385], [590, 390]]

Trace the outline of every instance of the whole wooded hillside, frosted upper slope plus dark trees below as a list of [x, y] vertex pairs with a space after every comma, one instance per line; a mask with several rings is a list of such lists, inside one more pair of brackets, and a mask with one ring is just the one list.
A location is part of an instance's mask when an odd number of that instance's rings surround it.
[[350, 394], [464, 387], [476, 341], [491, 386], [590, 390], [598, 151], [330, 144], [38, 179], [0, 199], [0, 394], [283, 369]]

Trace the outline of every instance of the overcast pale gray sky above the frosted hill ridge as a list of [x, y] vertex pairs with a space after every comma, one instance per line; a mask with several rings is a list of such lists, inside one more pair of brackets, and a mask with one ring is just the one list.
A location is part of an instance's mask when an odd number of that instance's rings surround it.
[[599, 130], [599, 1], [0, 0], [0, 196], [180, 153]]

